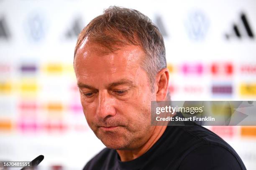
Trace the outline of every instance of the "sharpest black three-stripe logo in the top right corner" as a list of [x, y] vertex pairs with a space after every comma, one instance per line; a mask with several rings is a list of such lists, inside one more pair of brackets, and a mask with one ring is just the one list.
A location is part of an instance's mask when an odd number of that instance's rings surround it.
[[231, 37], [237, 37], [238, 39], [241, 39], [242, 37], [248, 37], [250, 39], [254, 39], [253, 31], [245, 13], [241, 13], [238, 24], [233, 24], [232, 33], [225, 34], [225, 37], [227, 39], [230, 39]]

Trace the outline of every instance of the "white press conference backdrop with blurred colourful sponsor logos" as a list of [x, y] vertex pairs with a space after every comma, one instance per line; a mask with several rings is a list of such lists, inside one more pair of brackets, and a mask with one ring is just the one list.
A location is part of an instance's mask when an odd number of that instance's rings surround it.
[[[256, 99], [254, 0], [0, 0], [0, 160], [44, 155], [38, 169], [79, 170], [104, 148], [72, 63], [78, 33], [110, 5], [139, 10], [161, 30], [172, 100]], [[207, 128], [256, 169], [256, 127]]]

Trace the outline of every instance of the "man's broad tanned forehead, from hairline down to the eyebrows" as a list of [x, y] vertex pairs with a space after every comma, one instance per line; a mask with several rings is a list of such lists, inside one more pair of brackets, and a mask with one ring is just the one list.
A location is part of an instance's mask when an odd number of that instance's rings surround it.
[[132, 78], [141, 72], [141, 61], [145, 56], [141, 47], [127, 45], [112, 53], [102, 52], [95, 44], [81, 45], [77, 50], [74, 68], [78, 81], [114, 81]]

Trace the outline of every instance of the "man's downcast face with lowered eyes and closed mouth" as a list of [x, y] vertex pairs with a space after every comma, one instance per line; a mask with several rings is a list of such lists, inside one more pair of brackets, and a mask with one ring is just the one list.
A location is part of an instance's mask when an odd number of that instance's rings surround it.
[[108, 148], [139, 148], [152, 135], [151, 93], [141, 68], [145, 53], [128, 45], [110, 54], [100, 46], [82, 45], [74, 68], [87, 123]]

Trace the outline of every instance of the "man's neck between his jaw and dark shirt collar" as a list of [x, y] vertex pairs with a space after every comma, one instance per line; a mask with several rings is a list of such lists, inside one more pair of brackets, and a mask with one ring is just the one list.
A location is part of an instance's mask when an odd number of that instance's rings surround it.
[[134, 160], [144, 153], [146, 153], [159, 138], [163, 135], [167, 126], [155, 126], [154, 131], [151, 137], [143, 144], [140, 148], [136, 150], [117, 150], [118, 155], [120, 156], [121, 161]]

